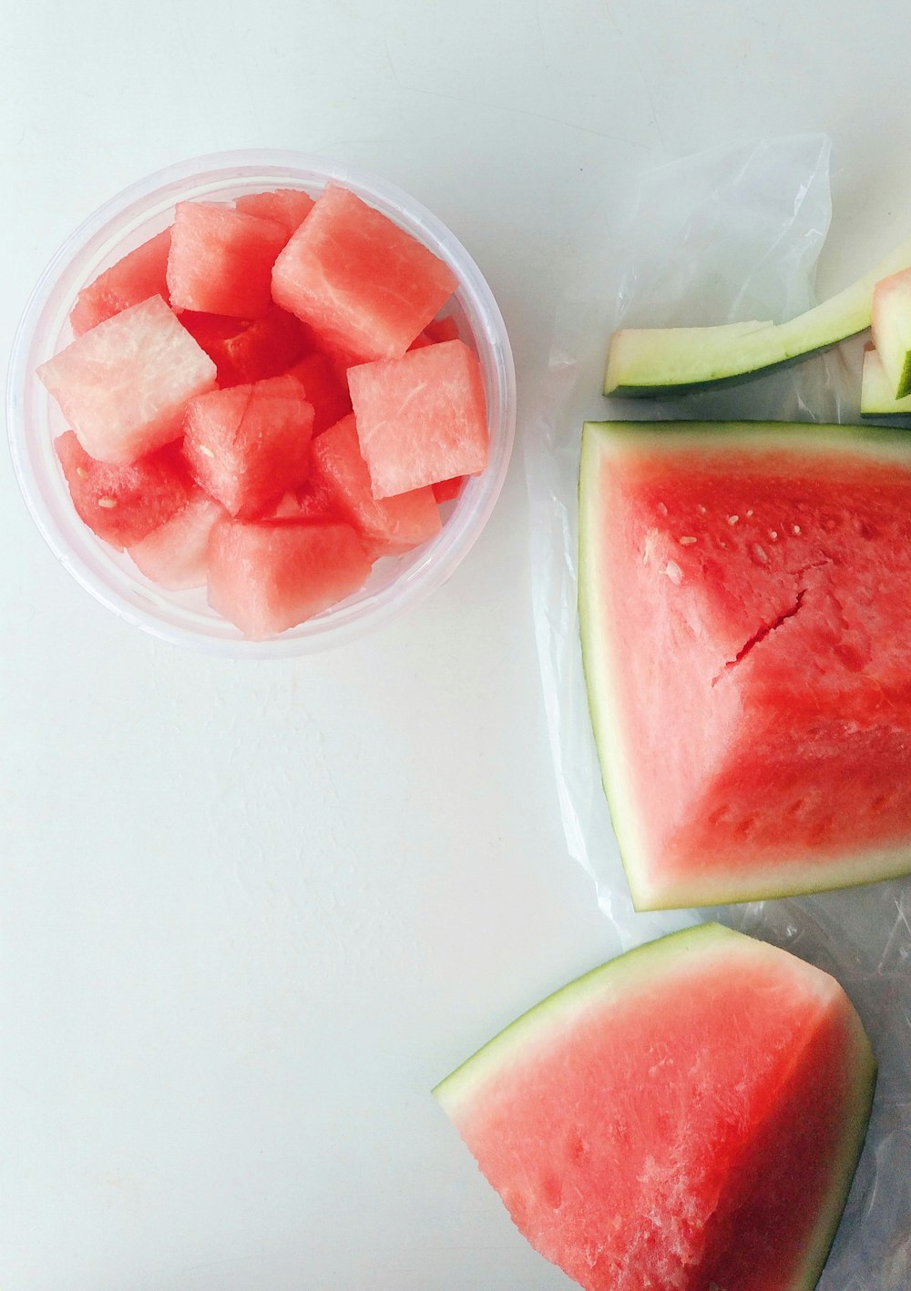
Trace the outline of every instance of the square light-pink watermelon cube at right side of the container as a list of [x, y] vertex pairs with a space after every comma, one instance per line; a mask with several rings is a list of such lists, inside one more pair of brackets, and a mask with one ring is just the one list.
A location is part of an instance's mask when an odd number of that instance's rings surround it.
[[377, 497], [474, 475], [487, 465], [487, 413], [477, 356], [443, 341], [350, 368], [348, 385]]

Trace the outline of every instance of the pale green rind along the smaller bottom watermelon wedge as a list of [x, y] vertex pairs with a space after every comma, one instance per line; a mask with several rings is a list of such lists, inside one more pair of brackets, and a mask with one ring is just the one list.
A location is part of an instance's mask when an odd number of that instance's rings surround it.
[[797, 955], [720, 923], [702, 923], [669, 933], [628, 950], [553, 991], [477, 1050], [432, 1092], [443, 1112], [457, 1124], [460, 1112], [482, 1100], [486, 1086], [513, 1062], [521, 1061], [523, 1052], [538, 1043], [545, 1043], [557, 1028], [571, 1026], [575, 1016], [584, 1015], [598, 1004], [603, 1006], [611, 995], [624, 998], [631, 989], [645, 991], [656, 981], [673, 980], [677, 972], [685, 971], [687, 958], [704, 963], [704, 957], [712, 953], [717, 953], [722, 962], [730, 954], [774, 955], [778, 962], [787, 959], [795, 977], [800, 975], [821, 993], [836, 998], [841, 995], [845, 1001], [854, 1033], [845, 1062], [853, 1056], [854, 1081], [845, 1108], [843, 1141], [831, 1163], [832, 1185], [808, 1238], [802, 1265], [790, 1285], [777, 1288], [813, 1291], [835, 1242], [863, 1149], [876, 1088], [876, 1060], [863, 1024], [841, 986], [828, 973]]

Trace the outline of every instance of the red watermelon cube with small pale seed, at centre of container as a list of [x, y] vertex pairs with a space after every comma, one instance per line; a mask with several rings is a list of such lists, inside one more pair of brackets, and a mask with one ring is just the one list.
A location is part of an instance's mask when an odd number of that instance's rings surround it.
[[187, 407], [190, 474], [231, 515], [256, 515], [310, 469], [313, 405], [293, 377], [213, 390]]

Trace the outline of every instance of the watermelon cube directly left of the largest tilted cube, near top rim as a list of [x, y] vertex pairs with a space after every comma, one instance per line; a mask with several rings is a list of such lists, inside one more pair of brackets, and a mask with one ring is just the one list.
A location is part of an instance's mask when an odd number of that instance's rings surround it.
[[274, 219], [213, 201], [180, 201], [171, 232], [168, 290], [176, 310], [261, 318], [271, 307], [271, 269], [287, 241]]

